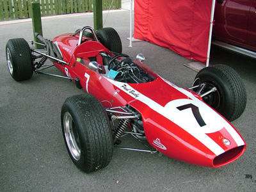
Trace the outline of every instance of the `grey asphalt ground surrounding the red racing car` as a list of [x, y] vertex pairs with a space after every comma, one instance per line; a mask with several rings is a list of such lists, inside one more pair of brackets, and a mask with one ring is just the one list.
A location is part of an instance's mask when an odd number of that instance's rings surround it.
[[[104, 12], [104, 19], [108, 12]], [[0, 24], [3, 22], [0, 22]], [[92, 13], [42, 20], [44, 37], [93, 26]], [[123, 52], [142, 52], [145, 64], [181, 87], [189, 87], [196, 72], [190, 60], [148, 42], [129, 47], [129, 11], [111, 11], [104, 27], [118, 31]], [[0, 191], [256, 191], [256, 61], [212, 47], [211, 65], [224, 63], [237, 70], [246, 86], [243, 115], [232, 122], [247, 143], [246, 152], [221, 168], [204, 168], [157, 154], [115, 149], [108, 167], [94, 173], [79, 171], [68, 156], [61, 132], [60, 111], [67, 97], [83, 93], [66, 79], [35, 75], [17, 83], [6, 65], [8, 39], [33, 40], [31, 21], [0, 26]], [[48, 72], [61, 74], [56, 68]], [[124, 145], [141, 147], [132, 138]]]

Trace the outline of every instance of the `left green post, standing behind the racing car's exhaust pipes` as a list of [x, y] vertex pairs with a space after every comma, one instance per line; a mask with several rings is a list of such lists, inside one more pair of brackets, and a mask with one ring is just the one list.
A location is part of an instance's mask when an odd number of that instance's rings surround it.
[[[40, 35], [43, 36], [43, 30], [42, 30], [42, 21], [41, 21], [41, 10], [40, 10], [40, 3], [39, 1], [33, 1], [31, 3], [32, 6], [32, 24], [33, 24], [33, 34], [39, 33]], [[42, 43], [38, 38], [34, 36], [34, 41], [38, 43]], [[40, 44], [35, 44], [36, 49], [43, 49], [44, 46]]]

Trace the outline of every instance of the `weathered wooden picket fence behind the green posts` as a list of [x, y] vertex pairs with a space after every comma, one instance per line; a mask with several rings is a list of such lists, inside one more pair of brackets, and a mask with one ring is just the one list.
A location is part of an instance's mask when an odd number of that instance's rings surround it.
[[[0, 0], [0, 20], [31, 17], [33, 0]], [[40, 0], [41, 15], [92, 12], [93, 0]], [[121, 0], [102, 0], [103, 10], [121, 8]]]

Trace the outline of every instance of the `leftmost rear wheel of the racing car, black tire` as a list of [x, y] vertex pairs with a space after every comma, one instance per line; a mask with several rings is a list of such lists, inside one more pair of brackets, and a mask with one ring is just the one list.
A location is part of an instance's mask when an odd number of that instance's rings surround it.
[[13, 38], [6, 44], [8, 70], [15, 81], [30, 79], [33, 74], [31, 49], [24, 38]]

